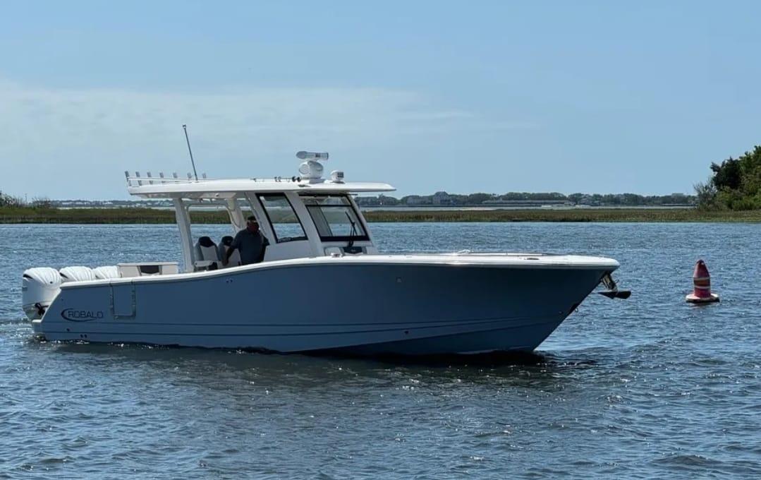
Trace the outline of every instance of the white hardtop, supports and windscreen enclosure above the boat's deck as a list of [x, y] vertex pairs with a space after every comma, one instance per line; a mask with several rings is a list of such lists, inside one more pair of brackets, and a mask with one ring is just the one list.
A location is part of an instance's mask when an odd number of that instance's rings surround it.
[[[322, 178], [326, 153], [299, 152], [306, 160], [301, 176], [291, 178], [247, 178], [212, 180], [205, 177], [158, 178], [132, 176], [125, 172], [129, 193], [144, 198], [170, 199], [174, 203], [180, 229], [183, 270], [217, 270], [240, 265], [234, 252], [227, 264], [222, 261], [236, 232], [246, 228], [246, 219], [256, 217], [262, 235], [269, 242], [263, 261], [314, 258], [326, 255], [377, 254], [365, 218], [352, 197], [358, 192], [394, 190], [388, 184], [347, 183], [342, 171]], [[215, 241], [209, 235], [193, 237], [191, 210], [224, 210], [231, 235]]]

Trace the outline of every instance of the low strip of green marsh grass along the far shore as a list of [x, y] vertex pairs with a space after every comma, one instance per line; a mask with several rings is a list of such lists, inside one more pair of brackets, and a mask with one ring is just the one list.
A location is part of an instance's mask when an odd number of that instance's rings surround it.
[[[694, 208], [365, 210], [368, 222], [761, 222], [761, 210]], [[219, 211], [193, 211], [194, 223], [228, 223]], [[56, 209], [0, 207], [0, 223], [174, 223], [172, 210], [151, 208]]]

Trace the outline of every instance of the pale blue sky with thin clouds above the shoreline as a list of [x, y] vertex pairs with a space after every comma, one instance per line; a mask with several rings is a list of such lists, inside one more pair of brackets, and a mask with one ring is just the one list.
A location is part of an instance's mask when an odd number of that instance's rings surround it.
[[761, 143], [759, 2], [3, 2], [0, 190], [326, 170], [399, 194], [690, 193]]

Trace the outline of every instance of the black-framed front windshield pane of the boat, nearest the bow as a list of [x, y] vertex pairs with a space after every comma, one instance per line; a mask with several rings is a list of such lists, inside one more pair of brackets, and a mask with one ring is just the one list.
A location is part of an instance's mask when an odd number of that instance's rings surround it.
[[369, 239], [349, 197], [338, 194], [302, 195], [301, 200], [304, 200], [323, 242]]

